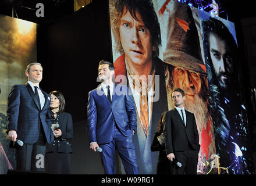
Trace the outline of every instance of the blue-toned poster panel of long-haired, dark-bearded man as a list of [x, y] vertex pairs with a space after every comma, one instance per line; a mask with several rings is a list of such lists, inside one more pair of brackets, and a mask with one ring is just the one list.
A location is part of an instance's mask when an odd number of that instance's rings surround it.
[[[209, 103], [221, 170], [251, 174], [252, 156], [234, 23], [200, 11]], [[225, 169], [227, 168], [227, 170]]]

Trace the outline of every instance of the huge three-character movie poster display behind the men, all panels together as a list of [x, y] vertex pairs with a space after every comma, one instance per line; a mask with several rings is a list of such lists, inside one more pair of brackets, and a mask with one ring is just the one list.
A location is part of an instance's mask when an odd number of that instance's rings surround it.
[[251, 174], [234, 24], [175, 0], [109, 0], [109, 15], [115, 82], [129, 86], [136, 105], [140, 174], [157, 173], [151, 144], [174, 88], [195, 115], [197, 174]]

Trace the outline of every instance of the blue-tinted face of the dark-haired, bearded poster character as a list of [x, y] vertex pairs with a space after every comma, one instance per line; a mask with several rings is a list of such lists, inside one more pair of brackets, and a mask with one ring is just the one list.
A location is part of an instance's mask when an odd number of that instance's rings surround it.
[[219, 87], [226, 89], [233, 73], [233, 59], [230, 55], [232, 51], [226, 42], [214, 33], [209, 35], [209, 51]]

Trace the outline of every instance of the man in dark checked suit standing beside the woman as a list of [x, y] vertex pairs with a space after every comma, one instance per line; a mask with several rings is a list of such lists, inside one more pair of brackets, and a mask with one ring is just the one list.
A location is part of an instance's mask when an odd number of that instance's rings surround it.
[[27, 84], [14, 85], [8, 96], [9, 139], [14, 142], [19, 138], [24, 145], [16, 146], [17, 170], [44, 171], [45, 144], [52, 143], [49, 112], [50, 97], [42, 91], [40, 63], [30, 63], [25, 71]]

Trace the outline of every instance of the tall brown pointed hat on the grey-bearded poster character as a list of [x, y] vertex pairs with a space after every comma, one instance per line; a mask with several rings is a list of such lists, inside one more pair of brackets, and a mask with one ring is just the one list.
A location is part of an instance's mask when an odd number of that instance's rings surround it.
[[190, 6], [177, 1], [172, 4], [163, 60], [173, 66], [206, 74], [197, 27]]

